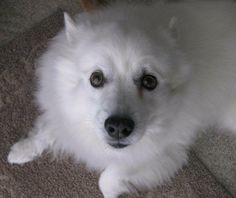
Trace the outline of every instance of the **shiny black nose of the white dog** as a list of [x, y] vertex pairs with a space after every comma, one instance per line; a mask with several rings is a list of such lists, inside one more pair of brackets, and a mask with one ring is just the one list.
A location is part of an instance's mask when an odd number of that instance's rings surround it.
[[119, 140], [132, 133], [134, 121], [126, 117], [110, 116], [106, 119], [104, 126], [110, 137]]

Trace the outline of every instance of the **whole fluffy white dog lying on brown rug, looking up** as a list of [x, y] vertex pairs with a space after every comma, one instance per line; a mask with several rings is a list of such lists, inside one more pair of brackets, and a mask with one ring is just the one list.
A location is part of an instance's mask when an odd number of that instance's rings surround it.
[[102, 172], [105, 198], [170, 179], [200, 128], [236, 131], [235, 19], [231, 2], [65, 14], [39, 61], [42, 114], [8, 161], [63, 151]]

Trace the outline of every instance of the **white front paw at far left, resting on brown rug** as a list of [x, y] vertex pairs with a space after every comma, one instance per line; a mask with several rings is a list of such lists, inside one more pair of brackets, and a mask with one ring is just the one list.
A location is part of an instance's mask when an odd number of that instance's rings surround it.
[[23, 139], [15, 143], [8, 154], [7, 160], [11, 164], [24, 164], [37, 156], [37, 149], [30, 139]]

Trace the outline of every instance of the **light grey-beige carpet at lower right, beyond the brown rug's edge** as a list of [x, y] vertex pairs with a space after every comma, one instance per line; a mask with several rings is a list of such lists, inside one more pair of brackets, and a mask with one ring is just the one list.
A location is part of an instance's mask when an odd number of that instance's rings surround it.
[[[218, 129], [219, 130], [219, 129]], [[208, 129], [199, 134], [194, 152], [211, 173], [236, 197], [236, 138], [230, 133]]]

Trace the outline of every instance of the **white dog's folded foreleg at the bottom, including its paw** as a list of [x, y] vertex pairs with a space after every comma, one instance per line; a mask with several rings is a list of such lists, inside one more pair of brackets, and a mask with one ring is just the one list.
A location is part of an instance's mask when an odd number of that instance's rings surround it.
[[143, 164], [122, 164], [107, 167], [100, 176], [99, 187], [105, 198], [117, 198], [123, 193], [138, 192], [137, 189], [152, 188], [173, 177], [187, 163], [185, 148], [156, 156]]

